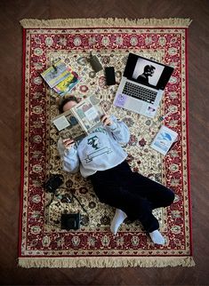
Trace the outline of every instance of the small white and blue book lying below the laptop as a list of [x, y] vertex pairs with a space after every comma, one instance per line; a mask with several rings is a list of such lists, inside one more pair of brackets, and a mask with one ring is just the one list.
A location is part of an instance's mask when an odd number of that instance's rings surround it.
[[157, 132], [156, 137], [153, 139], [150, 147], [157, 150], [162, 155], [166, 155], [173, 143], [176, 141], [178, 133], [172, 129], [161, 126]]

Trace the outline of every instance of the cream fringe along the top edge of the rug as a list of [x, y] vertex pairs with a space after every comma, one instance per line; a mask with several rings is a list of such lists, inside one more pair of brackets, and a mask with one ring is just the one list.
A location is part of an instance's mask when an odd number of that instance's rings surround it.
[[186, 18], [168, 19], [118, 19], [118, 18], [98, 18], [98, 19], [22, 19], [20, 25], [23, 28], [105, 28], [105, 27], [166, 27], [166, 28], [188, 28], [192, 20]]

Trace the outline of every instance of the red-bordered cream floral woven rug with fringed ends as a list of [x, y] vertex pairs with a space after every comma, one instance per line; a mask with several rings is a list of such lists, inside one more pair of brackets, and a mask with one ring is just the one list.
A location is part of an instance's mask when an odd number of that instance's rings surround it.
[[[23, 27], [22, 168], [19, 265], [23, 267], [194, 266], [191, 246], [188, 150], [187, 28], [189, 19], [164, 20], [21, 20]], [[174, 68], [165, 95], [152, 120], [113, 107], [117, 85], [105, 84], [104, 71], [95, 74], [88, 62], [96, 54], [103, 67], [114, 66], [117, 82], [128, 52]], [[81, 76], [72, 94], [96, 94], [109, 114], [125, 121], [131, 139], [125, 150], [133, 171], [157, 180], [175, 192], [171, 207], [154, 212], [165, 236], [164, 246], [150, 241], [139, 221], [127, 219], [116, 236], [109, 225], [115, 210], [100, 203], [91, 183], [79, 173], [62, 171], [51, 119], [58, 115], [59, 96], [40, 73], [53, 60], [64, 60]], [[166, 155], [149, 147], [160, 123], [179, 133]], [[62, 174], [66, 188], [52, 198], [43, 187], [50, 174]], [[76, 195], [68, 202], [70, 195]], [[60, 228], [64, 212], [81, 213], [81, 228]]]

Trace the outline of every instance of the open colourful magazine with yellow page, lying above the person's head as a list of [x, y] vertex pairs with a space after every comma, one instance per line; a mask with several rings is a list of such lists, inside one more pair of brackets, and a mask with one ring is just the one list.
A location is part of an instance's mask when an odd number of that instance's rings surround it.
[[47, 68], [41, 75], [44, 81], [60, 96], [67, 94], [80, 81], [80, 77], [76, 72], [72, 68], [67, 67], [62, 60], [54, 63], [52, 67]]

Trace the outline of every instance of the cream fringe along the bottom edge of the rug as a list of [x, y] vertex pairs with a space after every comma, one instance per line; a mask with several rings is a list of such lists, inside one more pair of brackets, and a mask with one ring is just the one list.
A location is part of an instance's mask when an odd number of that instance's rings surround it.
[[166, 267], [166, 266], [195, 266], [192, 257], [182, 258], [19, 258], [19, 266], [24, 268], [76, 268], [76, 267]]

